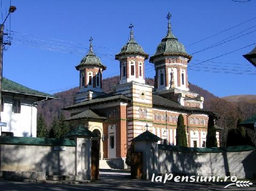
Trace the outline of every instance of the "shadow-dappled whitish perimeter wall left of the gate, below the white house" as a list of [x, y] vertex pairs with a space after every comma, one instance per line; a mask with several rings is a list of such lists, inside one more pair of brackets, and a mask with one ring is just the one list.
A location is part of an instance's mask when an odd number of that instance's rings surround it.
[[60, 151], [53, 146], [2, 144], [1, 170], [75, 175], [75, 148], [65, 147]]

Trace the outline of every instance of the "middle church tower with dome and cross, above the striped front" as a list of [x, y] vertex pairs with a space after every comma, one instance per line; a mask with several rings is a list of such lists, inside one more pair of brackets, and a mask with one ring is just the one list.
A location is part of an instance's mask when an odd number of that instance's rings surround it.
[[129, 41], [115, 55], [115, 59], [120, 61], [120, 84], [130, 81], [145, 83], [144, 60], [148, 59], [149, 55], [135, 41], [133, 27], [130, 24]]

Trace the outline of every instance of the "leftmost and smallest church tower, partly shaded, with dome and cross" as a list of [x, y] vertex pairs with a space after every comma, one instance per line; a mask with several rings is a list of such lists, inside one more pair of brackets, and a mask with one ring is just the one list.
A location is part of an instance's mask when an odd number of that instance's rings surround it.
[[76, 66], [79, 71], [79, 92], [75, 96], [75, 103], [91, 100], [103, 93], [102, 73], [106, 70], [100, 58], [94, 54], [92, 37], [90, 39], [90, 48], [87, 55]]

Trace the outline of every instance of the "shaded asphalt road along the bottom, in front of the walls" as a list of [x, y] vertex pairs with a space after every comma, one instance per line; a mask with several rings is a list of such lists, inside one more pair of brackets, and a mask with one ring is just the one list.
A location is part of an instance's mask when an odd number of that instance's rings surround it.
[[57, 185], [57, 184], [41, 184], [30, 182], [18, 182], [18, 181], [0, 181], [0, 190], [6, 191], [58, 191], [58, 190], [256, 190], [256, 185], [252, 185], [250, 188], [231, 186], [224, 188], [224, 184], [194, 184], [184, 182], [151, 182], [150, 180], [133, 180], [130, 179], [129, 173], [116, 173], [116, 172], [100, 172], [100, 180], [90, 182], [83, 185]]

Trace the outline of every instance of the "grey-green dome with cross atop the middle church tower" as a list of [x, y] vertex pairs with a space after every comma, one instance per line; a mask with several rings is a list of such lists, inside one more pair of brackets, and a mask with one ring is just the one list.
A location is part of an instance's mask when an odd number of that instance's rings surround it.
[[138, 44], [133, 35], [133, 25], [130, 24], [130, 39], [129, 41], [122, 47], [121, 51], [115, 55], [115, 59], [119, 60], [119, 58], [123, 55], [140, 55], [148, 59], [149, 55], [144, 52], [143, 48], [140, 44]]

